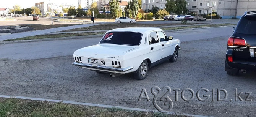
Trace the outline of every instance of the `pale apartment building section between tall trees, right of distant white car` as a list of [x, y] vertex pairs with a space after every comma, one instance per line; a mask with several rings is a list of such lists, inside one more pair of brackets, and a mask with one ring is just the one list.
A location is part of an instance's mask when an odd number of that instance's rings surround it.
[[165, 8], [166, 0], [142, 0], [141, 1], [141, 9], [148, 10], [152, 9], [153, 6], [157, 6], [159, 9]]

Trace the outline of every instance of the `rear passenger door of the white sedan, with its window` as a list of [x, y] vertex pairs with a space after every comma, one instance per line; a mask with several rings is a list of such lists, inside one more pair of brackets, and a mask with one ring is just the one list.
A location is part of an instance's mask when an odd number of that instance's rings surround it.
[[151, 63], [162, 58], [162, 45], [159, 42], [156, 31], [149, 33], [149, 49], [151, 50]]

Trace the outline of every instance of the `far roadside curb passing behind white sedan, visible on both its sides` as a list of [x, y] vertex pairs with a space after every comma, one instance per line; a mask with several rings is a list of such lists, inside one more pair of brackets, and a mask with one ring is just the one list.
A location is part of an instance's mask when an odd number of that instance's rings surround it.
[[[232, 27], [232, 26], [234, 26], [234, 25], [226, 25], [226, 26], [219, 26], [219, 27], [184, 28], [184, 29], [175, 29], [175, 30], [164, 30], [164, 32], [196, 30], [196, 29], [206, 29], [206, 28]], [[69, 39], [80, 39], [80, 38], [91, 38], [91, 37], [102, 37], [102, 36], [104, 36], [104, 34], [87, 35], [87, 36], [68, 36], [68, 37], [60, 37], [60, 38], [43, 38], [43, 39], [32, 39], [32, 40], [0, 41], [0, 44], [36, 42], [36, 41], [51, 41], [51, 40], [69, 40]]]

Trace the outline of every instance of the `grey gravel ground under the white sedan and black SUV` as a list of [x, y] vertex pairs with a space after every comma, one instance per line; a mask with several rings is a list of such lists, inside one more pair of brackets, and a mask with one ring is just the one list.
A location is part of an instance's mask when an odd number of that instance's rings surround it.
[[[181, 43], [181, 51], [177, 62], [164, 62], [149, 70], [146, 79], [138, 81], [131, 74], [115, 78], [109, 74], [97, 74], [77, 66], [73, 66], [71, 55], [63, 57], [43, 58], [36, 60], [0, 60], [0, 95], [28, 96], [71, 100], [86, 103], [108, 104], [134, 108], [156, 109], [152, 100], [153, 86], [169, 86], [180, 88], [178, 101], [175, 92], [168, 96], [173, 101], [172, 111], [194, 115], [211, 116], [256, 116], [256, 73], [240, 73], [239, 76], [228, 76], [224, 71], [225, 51], [228, 37], [211, 38], [208, 40], [186, 41]], [[138, 101], [141, 90], [145, 88], [150, 101]], [[181, 91], [193, 89], [195, 98], [183, 101]], [[215, 88], [215, 101], [201, 102], [196, 98], [200, 88], [209, 89], [201, 92], [211, 95]], [[227, 90], [227, 100], [217, 101], [217, 88]], [[239, 92], [252, 92], [252, 101], [234, 101], [235, 88]], [[241, 98], [245, 100], [247, 94]], [[190, 98], [191, 93], [185, 92]], [[224, 98], [224, 93], [220, 93]], [[204, 98], [205, 99], [205, 98]], [[230, 99], [233, 101], [230, 102]], [[165, 108], [162, 102], [160, 107]]]

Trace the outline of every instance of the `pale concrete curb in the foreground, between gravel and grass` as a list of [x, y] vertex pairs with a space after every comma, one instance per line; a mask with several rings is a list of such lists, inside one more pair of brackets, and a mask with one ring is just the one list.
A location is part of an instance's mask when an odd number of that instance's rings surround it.
[[[44, 98], [31, 98], [31, 97], [23, 97], [23, 96], [9, 96], [9, 95], [0, 95], [0, 98], [18, 98], [18, 99], [26, 99], [26, 100], [36, 100], [36, 101], [50, 101], [50, 102], [61, 102], [66, 104], [76, 104], [76, 105], [83, 105], [83, 106], [96, 106], [96, 107], [103, 107], [103, 108], [122, 108], [125, 110], [131, 111], [143, 111], [143, 112], [158, 112], [157, 110], [149, 110], [149, 109], [141, 109], [141, 108], [130, 108], [124, 106], [112, 106], [112, 105], [103, 105], [103, 104], [92, 104], [92, 103], [81, 103], [76, 101], [65, 101], [65, 100], [53, 100], [53, 99], [44, 99]], [[186, 113], [175, 113], [175, 112], [167, 112], [166, 114], [170, 115], [185, 115], [185, 116], [192, 116], [192, 117], [212, 117], [212, 116], [203, 116], [203, 115], [191, 115]]]

